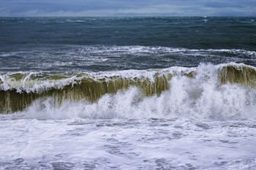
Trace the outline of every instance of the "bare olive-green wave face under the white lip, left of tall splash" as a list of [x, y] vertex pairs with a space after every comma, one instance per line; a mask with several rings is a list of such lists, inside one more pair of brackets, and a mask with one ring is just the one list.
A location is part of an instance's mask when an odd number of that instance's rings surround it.
[[[159, 96], [163, 90], [168, 89], [167, 82], [170, 80], [170, 77], [171, 74], [155, 74], [153, 81], [149, 80], [148, 78], [139, 79], [138, 77], [134, 77], [132, 79], [108, 77], [108, 80], [105, 78], [95, 80], [93, 78], [83, 77], [78, 80], [73, 80], [71, 83], [66, 82], [61, 87], [53, 86], [39, 91], [37, 89], [34, 91], [17, 91], [13, 88], [8, 90], [0, 90], [0, 95], [2, 96], [0, 101], [0, 112], [21, 111], [26, 107], [29, 107], [29, 105], [37, 98], [53, 97], [54, 103], [56, 104], [61, 104], [64, 100], [86, 100], [95, 102], [106, 93], [115, 94], [118, 90], [127, 90], [131, 86], [138, 87], [143, 96], [152, 96], [154, 94]], [[10, 76], [10, 79], [12, 79], [12, 75]], [[50, 77], [48, 80], [52, 80], [52, 77]], [[58, 80], [59, 76], [58, 79], [55, 79], [54, 81]], [[20, 82], [19, 80], [16, 81], [17, 82], [15, 83]]]

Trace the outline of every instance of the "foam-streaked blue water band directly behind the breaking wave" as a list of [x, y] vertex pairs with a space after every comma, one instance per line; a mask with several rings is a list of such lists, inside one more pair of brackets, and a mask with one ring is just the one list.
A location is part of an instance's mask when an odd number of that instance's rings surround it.
[[[8, 60], [7, 60], [8, 58]], [[18, 61], [17, 61], [18, 60]], [[7, 62], [8, 61], [8, 62]], [[29, 61], [29, 62], [28, 62]], [[197, 67], [203, 63], [255, 66], [256, 52], [238, 49], [186, 49], [158, 46], [64, 45], [0, 52], [0, 72], [99, 72], [129, 69]], [[125, 63], [125, 64], [124, 64]]]

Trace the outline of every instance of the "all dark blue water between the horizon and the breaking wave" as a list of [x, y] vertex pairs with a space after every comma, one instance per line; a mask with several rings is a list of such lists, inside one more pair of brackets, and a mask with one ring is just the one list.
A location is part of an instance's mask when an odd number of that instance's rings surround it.
[[0, 71], [255, 66], [256, 18], [0, 18]]

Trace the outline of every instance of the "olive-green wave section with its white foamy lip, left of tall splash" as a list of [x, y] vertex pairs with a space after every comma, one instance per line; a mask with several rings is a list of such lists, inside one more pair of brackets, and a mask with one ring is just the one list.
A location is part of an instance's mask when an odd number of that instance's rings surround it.
[[143, 96], [159, 96], [163, 90], [167, 90], [167, 82], [172, 77], [170, 73], [158, 72], [151, 72], [149, 76], [151, 77], [80, 77], [78, 74], [70, 78], [58, 76], [58, 79], [53, 79], [56, 75], [47, 75], [40, 78], [37, 76], [35, 79], [34, 74], [29, 74], [29, 77], [23, 74], [5, 75], [3, 80], [7, 81], [2, 83], [0, 90], [0, 112], [21, 111], [37, 98], [54, 98], [54, 104], [61, 104], [64, 100], [82, 99], [95, 102], [107, 93], [117, 93], [118, 90], [126, 90], [130, 86], [140, 88]]

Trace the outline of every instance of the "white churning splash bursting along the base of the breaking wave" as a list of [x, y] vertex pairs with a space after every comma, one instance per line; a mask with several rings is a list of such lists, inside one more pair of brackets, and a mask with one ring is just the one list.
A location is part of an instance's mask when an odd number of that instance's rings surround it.
[[226, 120], [255, 117], [256, 89], [220, 84], [218, 68], [202, 64], [197, 67], [195, 78], [176, 74], [169, 82], [170, 90], [160, 96], [145, 97], [138, 88], [131, 87], [102, 96], [95, 103], [65, 101], [61, 106], [56, 106], [51, 98], [39, 100], [23, 113], [29, 117], [45, 119], [196, 117]]

